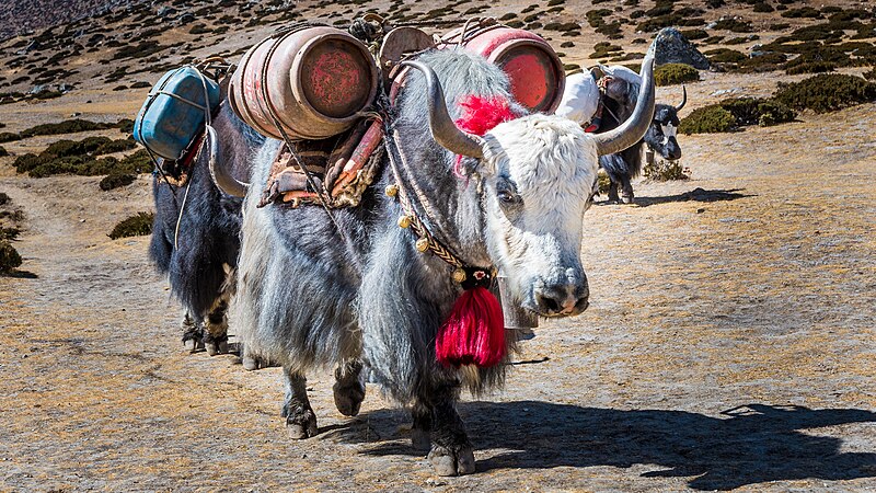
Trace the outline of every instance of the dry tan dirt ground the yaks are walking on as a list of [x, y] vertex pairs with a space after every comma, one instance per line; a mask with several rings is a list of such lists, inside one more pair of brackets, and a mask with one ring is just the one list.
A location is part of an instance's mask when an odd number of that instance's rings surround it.
[[322, 433], [296, 443], [278, 369], [183, 354], [148, 239], [105, 236], [150, 207], [146, 179], [7, 168], [36, 277], [0, 278], [0, 490], [874, 490], [874, 116], [683, 137], [693, 180], [593, 207], [591, 308], [461, 404], [479, 473], [458, 479], [372, 386], [350, 420], [311, 379]]

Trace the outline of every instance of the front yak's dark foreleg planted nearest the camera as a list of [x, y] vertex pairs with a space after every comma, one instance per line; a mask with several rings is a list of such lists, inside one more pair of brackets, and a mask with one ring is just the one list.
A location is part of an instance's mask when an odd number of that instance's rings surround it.
[[471, 474], [474, 472], [474, 451], [465, 426], [456, 409], [456, 387], [445, 385], [425, 400], [431, 408], [431, 450], [429, 462], [438, 475]]

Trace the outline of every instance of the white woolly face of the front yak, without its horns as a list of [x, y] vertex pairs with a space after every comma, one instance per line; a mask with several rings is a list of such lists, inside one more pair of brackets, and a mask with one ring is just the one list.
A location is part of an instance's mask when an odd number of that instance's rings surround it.
[[486, 141], [486, 242], [515, 302], [546, 317], [587, 308], [581, 216], [596, 186], [595, 141], [569, 119], [541, 114], [496, 126]]

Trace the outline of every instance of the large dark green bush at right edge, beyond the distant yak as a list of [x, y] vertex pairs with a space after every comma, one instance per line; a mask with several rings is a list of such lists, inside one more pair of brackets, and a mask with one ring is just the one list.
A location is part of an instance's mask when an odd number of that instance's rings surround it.
[[773, 99], [795, 110], [827, 113], [876, 100], [876, 83], [842, 73], [821, 73], [800, 82], [779, 82]]

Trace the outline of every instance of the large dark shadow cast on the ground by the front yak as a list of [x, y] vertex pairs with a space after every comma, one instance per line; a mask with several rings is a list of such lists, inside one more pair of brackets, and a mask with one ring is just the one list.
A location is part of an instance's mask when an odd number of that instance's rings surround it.
[[[693, 477], [688, 485], [695, 490], [876, 477], [876, 452], [842, 452], [840, 438], [804, 433], [876, 423], [876, 413], [865, 410], [748, 404], [712, 417], [687, 411], [623, 411], [540, 401], [464, 402], [459, 410], [475, 454], [498, 449], [479, 460], [480, 471], [657, 465], [664, 469], [643, 477]], [[364, 452], [369, 455], [422, 455], [400, 432], [407, 423], [402, 410], [380, 410], [333, 427], [328, 435], [366, 443]]]

